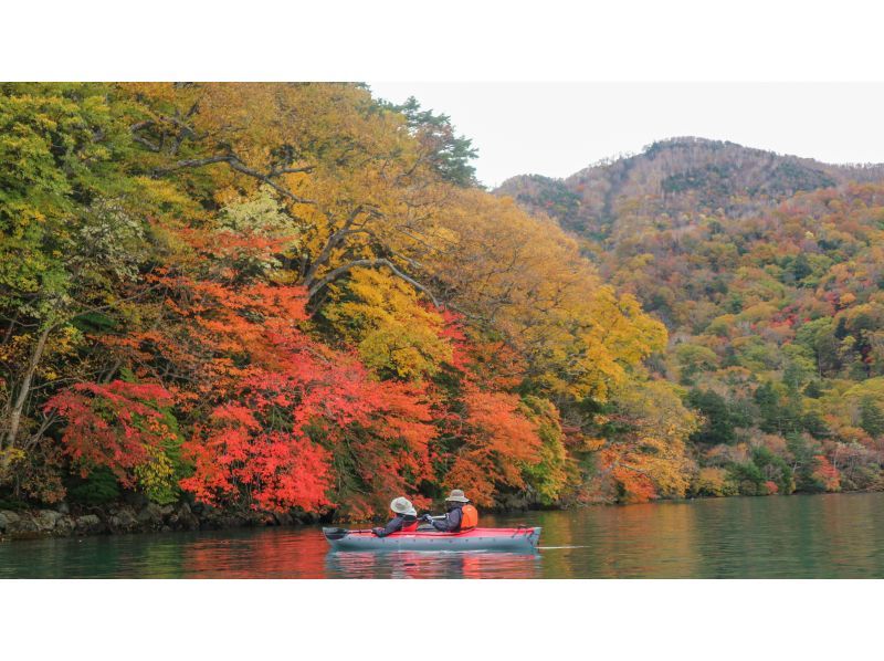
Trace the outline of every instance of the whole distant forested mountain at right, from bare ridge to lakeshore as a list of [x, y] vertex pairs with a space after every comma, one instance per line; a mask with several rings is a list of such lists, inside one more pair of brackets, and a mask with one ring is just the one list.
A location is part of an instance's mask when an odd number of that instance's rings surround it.
[[882, 486], [884, 168], [676, 138], [497, 191], [663, 321], [697, 493]]

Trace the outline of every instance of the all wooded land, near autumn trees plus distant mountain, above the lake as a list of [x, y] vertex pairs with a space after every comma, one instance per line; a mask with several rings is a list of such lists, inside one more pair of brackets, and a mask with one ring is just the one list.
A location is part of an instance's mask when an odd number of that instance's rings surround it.
[[0, 527], [884, 487], [881, 168], [474, 156], [358, 84], [0, 84]]

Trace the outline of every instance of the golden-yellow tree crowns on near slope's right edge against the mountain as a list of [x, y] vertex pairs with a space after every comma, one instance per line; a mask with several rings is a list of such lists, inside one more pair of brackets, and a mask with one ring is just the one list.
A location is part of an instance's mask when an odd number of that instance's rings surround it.
[[[433, 262], [457, 309], [502, 334], [552, 392], [604, 400], [666, 343], [663, 324], [602, 285], [577, 242], [511, 199], [460, 191], [442, 213], [451, 235]], [[501, 231], [505, 227], [506, 231]]]

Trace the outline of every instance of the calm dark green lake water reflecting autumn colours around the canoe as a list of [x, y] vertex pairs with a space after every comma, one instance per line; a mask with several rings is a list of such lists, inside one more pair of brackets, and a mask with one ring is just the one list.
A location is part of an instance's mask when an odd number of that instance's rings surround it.
[[0, 544], [0, 578], [882, 578], [884, 494], [485, 516], [537, 554], [329, 553], [318, 527]]

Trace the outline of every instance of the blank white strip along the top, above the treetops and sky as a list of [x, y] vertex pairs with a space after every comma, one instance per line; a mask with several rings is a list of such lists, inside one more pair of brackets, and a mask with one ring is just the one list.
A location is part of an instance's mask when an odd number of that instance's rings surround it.
[[874, 81], [867, 0], [7, 2], [0, 80]]

